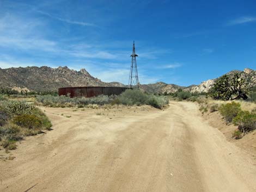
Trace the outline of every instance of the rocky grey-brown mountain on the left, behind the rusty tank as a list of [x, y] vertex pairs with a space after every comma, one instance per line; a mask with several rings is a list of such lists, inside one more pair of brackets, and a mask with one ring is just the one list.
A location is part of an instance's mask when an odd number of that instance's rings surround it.
[[67, 66], [57, 69], [42, 67], [0, 68], [0, 86], [15, 90], [57, 91], [66, 86], [121, 86], [120, 83], [105, 83], [91, 76], [85, 69], [75, 71]]

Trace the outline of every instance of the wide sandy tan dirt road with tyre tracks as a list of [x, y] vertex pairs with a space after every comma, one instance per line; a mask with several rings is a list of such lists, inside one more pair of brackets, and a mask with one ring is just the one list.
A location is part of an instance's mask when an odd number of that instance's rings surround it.
[[194, 103], [42, 109], [53, 131], [27, 138], [14, 160], [0, 162], [0, 191], [256, 191], [255, 160]]

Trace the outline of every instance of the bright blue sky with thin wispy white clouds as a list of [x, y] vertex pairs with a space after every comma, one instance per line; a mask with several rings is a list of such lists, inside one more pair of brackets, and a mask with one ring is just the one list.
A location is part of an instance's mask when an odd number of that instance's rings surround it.
[[255, 70], [255, 34], [255, 0], [0, 0], [1, 68], [85, 68], [105, 82], [128, 83], [133, 40], [143, 84]]

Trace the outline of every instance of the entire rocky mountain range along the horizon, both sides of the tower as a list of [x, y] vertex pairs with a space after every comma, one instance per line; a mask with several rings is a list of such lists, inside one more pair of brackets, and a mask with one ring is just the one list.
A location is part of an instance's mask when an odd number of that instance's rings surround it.
[[[230, 71], [227, 75], [238, 72], [249, 86], [256, 86], [256, 70]], [[140, 88], [151, 93], [172, 93], [178, 89], [191, 92], [208, 92], [216, 79], [209, 79], [199, 85], [179, 86], [157, 82], [153, 84], [140, 84]], [[13, 88], [17, 91], [57, 91], [58, 88], [67, 86], [127, 86], [119, 82], [105, 83], [91, 76], [85, 69], [75, 71], [67, 66], [56, 69], [42, 67], [11, 67], [0, 68], [0, 87]]]

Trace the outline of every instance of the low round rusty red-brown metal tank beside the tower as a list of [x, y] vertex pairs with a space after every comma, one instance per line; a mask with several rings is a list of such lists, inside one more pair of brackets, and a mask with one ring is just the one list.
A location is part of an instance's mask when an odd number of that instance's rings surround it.
[[120, 95], [126, 89], [124, 87], [110, 86], [76, 86], [68, 88], [59, 88], [59, 96], [65, 95], [72, 97], [96, 97], [99, 95]]

